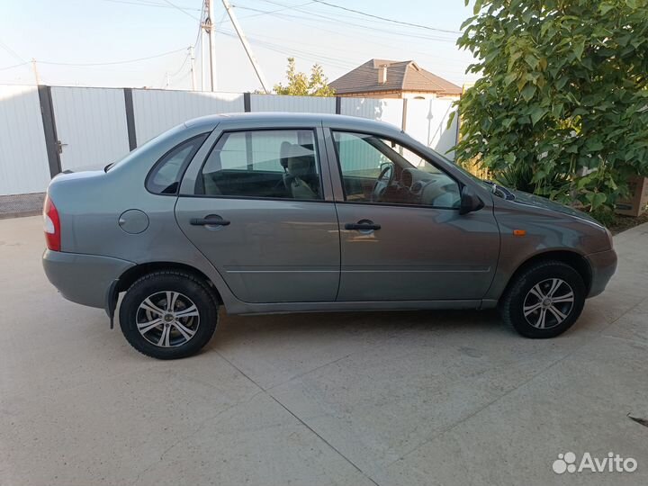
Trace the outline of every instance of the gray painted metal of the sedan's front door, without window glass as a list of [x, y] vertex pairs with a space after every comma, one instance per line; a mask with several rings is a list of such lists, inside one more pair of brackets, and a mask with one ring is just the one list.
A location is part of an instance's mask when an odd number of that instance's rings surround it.
[[[329, 130], [367, 130], [357, 125], [356, 122], [348, 123], [345, 118], [324, 122], [339, 218], [338, 300], [451, 301], [461, 296], [481, 301], [491, 286], [500, 254], [500, 230], [492, 213], [491, 194], [481, 191], [482, 210], [464, 215], [455, 209], [346, 202]], [[380, 126], [383, 130], [374, 129], [371, 133], [423, 152], [421, 147], [415, 147], [415, 140], [401, 130]], [[428, 155], [428, 149], [421, 155]], [[443, 164], [437, 166], [464, 184], [463, 173], [448, 170]], [[345, 229], [345, 223], [359, 220], [371, 220], [382, 229], [370, 234]], [[476, 234], [479, 234], [479, 245], [474, 244]]]

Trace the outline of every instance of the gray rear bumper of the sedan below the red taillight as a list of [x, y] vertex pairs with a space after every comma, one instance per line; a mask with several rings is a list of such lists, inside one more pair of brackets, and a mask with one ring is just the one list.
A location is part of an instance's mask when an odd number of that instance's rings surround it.
[[43, 268], [49, 282], [68, 301], [103, 309], [112, 282], [135, 264], [127, 260], [45, 250]]

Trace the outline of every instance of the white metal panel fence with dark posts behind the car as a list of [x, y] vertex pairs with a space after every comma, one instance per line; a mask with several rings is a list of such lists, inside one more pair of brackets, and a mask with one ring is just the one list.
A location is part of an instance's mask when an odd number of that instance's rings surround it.
[[442, 99], [0, 85], [0, 195], [41, 193], [59, 170], [104, 166], [206, 114], [339, 112], [392, 123], [444, 154], [455, 145], [456, 121], [446, 128], [453, 110], [452, 101]]

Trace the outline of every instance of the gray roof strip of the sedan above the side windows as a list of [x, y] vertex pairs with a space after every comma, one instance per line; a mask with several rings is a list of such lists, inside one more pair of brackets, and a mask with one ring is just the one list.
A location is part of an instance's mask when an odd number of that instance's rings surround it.
[[349, 128], [378, 131], [402, 131], [399, 127], [384, 121], [369, 120], [357, 116], [348, 116], [330, 113], [293, 113], [293, 112], [244, 112], [244, 113], [221, 113], [194, 118], [185, 121], [187, 127], [214, 127], [220, 121], [266, 121], [266, 122], [291, 122], [301, 123], [324, 123], [325, 125], [338, 125]]

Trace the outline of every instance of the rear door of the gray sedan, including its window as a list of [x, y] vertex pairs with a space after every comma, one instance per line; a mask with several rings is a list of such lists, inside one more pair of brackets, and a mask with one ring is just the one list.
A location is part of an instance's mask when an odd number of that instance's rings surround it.
[[[335, 301], [338, 218], [321, 170], [321, 128], [217, 130], [217, 141], [194, 157], [175, 206], [184, 234], [241, 301]], [[288, 151], [299, 154], [306, 199], [284, 183]]]

